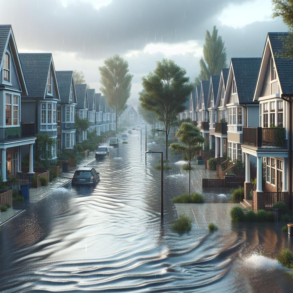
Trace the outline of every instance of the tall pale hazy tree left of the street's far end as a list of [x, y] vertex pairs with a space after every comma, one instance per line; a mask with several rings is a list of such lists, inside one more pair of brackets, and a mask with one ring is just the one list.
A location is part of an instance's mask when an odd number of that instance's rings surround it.
[[101, 92], [110, 107], [116, 110], [117, 118], [126, 109], [126, 102], [130, 97], [132, 74], [128, 70], [128, 62], [118, 54], [104, 61], [104, 66], [99, 67], [101, 79]]

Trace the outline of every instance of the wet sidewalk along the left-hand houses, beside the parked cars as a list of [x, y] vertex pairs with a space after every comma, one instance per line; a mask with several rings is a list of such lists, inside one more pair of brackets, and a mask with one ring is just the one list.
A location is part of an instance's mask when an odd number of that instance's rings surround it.
[[[94, 152], [90, 153], [89, 157], [82, 160], [81, 163], [76, 164], [76, 168], [72, 169], [69, 172], [61, 173], [60, 176], [56, 177], [53, 181], [49, 182], [47, 186], [42, 186], [39, 188], [30, 188], [30, 198], [28, 201], [23, 203], [28, 204], [28, 203], [36, 203], [40, 201], [42, 198], [46, 197], [53, 190], [59, 187], [62, 187], [63, 185], [71, 181], [71, 178], [73, 177], [74, 172], [78, 168], [88, 165], [93, 160], [95, 160]], [[19, 206], [21, 206], [21, 202], [19, 203]], [[12, 219], [17, 214], [20, 214], [21, 212], [24, 212], [24, 211], [25, 209], [14, 209], [13, 207], [10, 207], [7, 209], [6, 212], [0, 212], [0, 226], [8, 222], [8, 220]]]

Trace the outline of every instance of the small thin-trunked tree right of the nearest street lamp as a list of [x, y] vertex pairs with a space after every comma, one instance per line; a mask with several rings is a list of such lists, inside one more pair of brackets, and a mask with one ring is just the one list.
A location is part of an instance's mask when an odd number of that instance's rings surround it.
[[189, 196], [190, 196], [190, 164], [195, 155], [202, 149], [205, 139], [202, 137], [200, 130], [191, 123], [183, 122], [176, 133], [179, 143], [172, 143], [171, 149], [175, 149], [184, 156], [189, 164]]

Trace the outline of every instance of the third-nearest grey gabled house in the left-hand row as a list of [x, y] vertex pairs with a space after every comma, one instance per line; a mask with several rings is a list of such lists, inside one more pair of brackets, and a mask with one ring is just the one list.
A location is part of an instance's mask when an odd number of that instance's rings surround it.
[[[73, 71], [56, 71], [60, 102], [57, 104], [57, 149], [75, 145], [75, 108], [77, 105]], [[59, 133], [58, 133], [59, 132]]]

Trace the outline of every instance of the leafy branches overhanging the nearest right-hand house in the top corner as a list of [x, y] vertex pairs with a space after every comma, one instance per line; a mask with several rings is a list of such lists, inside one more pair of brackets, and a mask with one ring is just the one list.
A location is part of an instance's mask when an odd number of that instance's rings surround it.
[[289, 27], [290, 35], [284, 38], [284, 51], [282, 57], [293, 57], [293, 0], [272, 0], [274, 4], [273, 17], [281, 16], [284, 23]]

